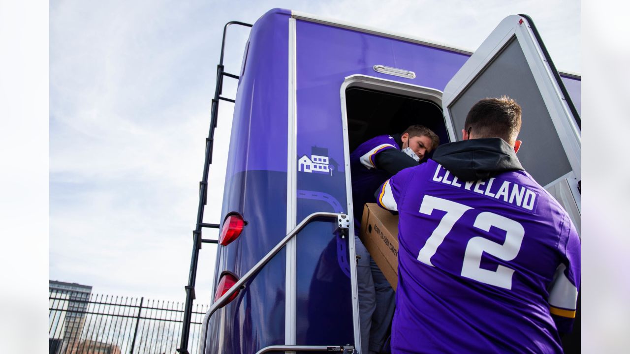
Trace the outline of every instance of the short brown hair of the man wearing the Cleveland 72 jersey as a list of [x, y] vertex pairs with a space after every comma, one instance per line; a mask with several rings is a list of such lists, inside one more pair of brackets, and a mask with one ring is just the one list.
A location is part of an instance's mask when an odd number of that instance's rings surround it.
[[508, 96], [484, 98], [468, 111], [464, 129], [480, 138], [501, 138], [514, 144], [521, 125], [521, 108]]

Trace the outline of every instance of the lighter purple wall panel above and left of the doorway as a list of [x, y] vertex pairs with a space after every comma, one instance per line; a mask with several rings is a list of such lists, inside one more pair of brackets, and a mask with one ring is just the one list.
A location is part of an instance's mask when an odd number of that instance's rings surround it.
[[[343, 165], [340, 88], [364, 74], [443, 90], [468, 55], [369, 33], [297, 21], [297, 153], [329, 149]], [[405, 79], [374, 71], [377, 64], [416, 72]]]

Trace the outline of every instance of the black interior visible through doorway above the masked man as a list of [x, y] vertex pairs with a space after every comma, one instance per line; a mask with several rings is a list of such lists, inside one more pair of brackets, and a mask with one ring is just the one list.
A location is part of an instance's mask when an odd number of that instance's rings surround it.
[[346, 108], [350, 152], [365, 140], [382, 134], [401, 134], [414, 124], [433, 130], [440, 137], [440, 144], [449, 142], [442, 107], [432, 101], [352, 87], [346, 90]]

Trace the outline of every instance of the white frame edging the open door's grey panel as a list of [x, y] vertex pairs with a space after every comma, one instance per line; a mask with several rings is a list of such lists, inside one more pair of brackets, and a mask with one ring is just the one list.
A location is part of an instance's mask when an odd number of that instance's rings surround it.
[[[569, 183], [571, 192], [575, 198], [580, 193], [577, 190], [577, 183], [581, 180], [580, 155], [581, 138], [580, 129], [575, 123], [571, 110], [564, 99], [564, 96], [556, 83], [553, 71], [549, 66], [542, 49], [534, 36], [531, 26], [522, 16], [512, 15], [503, 19], [490, 36], [484, 40], [479, 49], [464, 63], [464, 66], [457, 71], [457, 74], [449, 81], [444, 89], [444, 110], [445, 118], [453, 126], [450, 117], [450, 105], [457, 100], [467, 86], [490, 64], [497, 54], [516, 37], [518, 45], [525, 55], [525, 60], [529, 64], [530, 71], [534, 76], [536, 84], [541, 92], [542, 99], [549, 111], [549, 116], [553, 122], [560, 142], [564, 148], [564, 153], [571, 165], [572, 171], [566, 180]], [[456, 134], [457, 132], [455, 132]], [[455, 141], [455, 140], [454, 140]], [[545, 186], [548, 188], [549, 186]], [[578, 210], [581, 213], [580, 198], [575, 198]]]

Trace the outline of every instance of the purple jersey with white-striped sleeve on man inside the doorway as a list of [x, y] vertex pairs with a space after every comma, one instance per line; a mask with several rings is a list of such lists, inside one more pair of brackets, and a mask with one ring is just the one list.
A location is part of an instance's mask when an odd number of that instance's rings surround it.
[[[400, 147], [390, 135], [379, 135], [357, 147], [350, 154], [350, 173], [352, 174], [352, 202], [354, 207], [355, 224], [361, 222], [363, 205], [374, 203], [374, 191], [391, 177], [391, 174], [377, 169], [375, 156], [386, 149]], [[358, 228], [357, 228], [358, 230]]]

